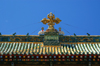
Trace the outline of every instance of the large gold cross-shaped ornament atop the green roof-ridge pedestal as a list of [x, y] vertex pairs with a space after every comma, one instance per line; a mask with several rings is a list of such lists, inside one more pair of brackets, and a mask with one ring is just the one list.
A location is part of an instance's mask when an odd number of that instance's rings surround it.
[[55, 23], [56, 23], [56, 24], [59, 24], [59, 23], [61, 22], [61, 20], [60, 20], [59, 18], [57, 18], [57, 17], [56, 17], [56, 19], [55, 19], [55, 15], [52, 14], [52, 13], [48, 14], [47, 17], [48, 17], [49, 19], [43, 18], [43, 19], [41, 20], [41, 22], [42, 22], [43, 24], [47, 24], [47, 23], [48, 23], [48, 25], [49, 25], [48, 29], [52, 32], [52, 31], [54, 30], [54, 25], [55, 25]]

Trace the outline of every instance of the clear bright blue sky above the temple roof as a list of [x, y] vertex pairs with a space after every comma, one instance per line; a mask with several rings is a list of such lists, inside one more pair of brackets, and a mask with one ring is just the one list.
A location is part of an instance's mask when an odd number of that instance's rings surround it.
[[65, 35], [100, 35], [100, 0], [0, 0], [0, 32], [38, 35], [50, 12], [62, 20], [54, 27]]

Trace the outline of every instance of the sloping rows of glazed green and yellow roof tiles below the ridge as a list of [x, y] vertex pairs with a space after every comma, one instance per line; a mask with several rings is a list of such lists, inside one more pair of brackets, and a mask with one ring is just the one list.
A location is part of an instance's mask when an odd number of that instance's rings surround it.
[[43, 46], [42, 43], [0, 43], [0, 54], [100, 54], [100, 43], [61, 44], [61, 46]]

